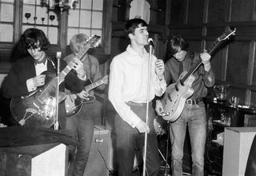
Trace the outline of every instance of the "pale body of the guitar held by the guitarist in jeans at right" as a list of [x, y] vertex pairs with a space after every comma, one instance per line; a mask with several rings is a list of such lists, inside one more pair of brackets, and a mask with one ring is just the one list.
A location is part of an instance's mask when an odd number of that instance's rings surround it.
[[162, 98], [162, 106], [166, 113], [170, 113], [168, 116], [163, 116], [167, 121], [176, 121], [180, 114], [182, 114], [183, 107], [185, 105], [186, 99], [189, 98], [194, 90], [191, 88], [194, 82], [194, 77], [190, 76], [184, 82], [184, 85], [180, 83], [180, 80], [187, 74], [186, 71], [182, 72], [178, 81], [174, 84], [170, 84], [166, 88], [166, 93]]

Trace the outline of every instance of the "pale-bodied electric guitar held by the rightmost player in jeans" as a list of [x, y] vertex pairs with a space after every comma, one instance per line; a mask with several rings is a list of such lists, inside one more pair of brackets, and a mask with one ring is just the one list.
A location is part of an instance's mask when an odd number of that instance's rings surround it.
[[[235, 29], [231, 30], [230, 27], [227, 27], [226, 29], [227, 31], [214, 41], [208, 50], [209, 54], [212, 54], [214, 49], [216, 49], [222, 41], [228, 39], [230, 35], [234, 35]], [[166, 92], [162, 98], [162, 106], [164, 111], [170, 114], [163, 116], [162, 118], [170, 122], [174, 122], [178, 119], [182, 113], [186, 99], [194, 94], [194, 90], [191, 88], [192, 83], [194, 82], [192, 75], [201, 65], [202, 61], [194, 64], [194, 66], [191, 66], [189, 72], [182, 72], [176, 83], [167, 86]]]

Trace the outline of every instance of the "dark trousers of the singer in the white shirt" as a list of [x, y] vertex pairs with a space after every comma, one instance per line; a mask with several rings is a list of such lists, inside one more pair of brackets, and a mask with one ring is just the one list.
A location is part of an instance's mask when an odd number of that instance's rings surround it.
[[[146, 106], [130, 106], [130, 108], [139, 118], [146, 122]], [[150, 133], [147, 135], [146, 147], [146, 175], [149, 176], [158, 175], [160, 170], [154, 118], [154, 110], [150, 104], [148, 118]], [[136, 128], [132, 128], [127, 122], [123, 121], [118, 114], [115, 120], [115, 134], [118, 176], [130, 176], [134, 170], [135, 151], [140, 150], [141, 152], [138, 153], [144, 153], [145, 134], [140, 134]]]

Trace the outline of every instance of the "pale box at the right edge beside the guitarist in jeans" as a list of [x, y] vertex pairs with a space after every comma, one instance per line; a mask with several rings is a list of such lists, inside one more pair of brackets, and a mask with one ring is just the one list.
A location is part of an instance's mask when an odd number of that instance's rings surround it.
[[250, 146], [256, 134], [256, 127], [226, 127], [224, 133], [223, 176], [245, 174]]

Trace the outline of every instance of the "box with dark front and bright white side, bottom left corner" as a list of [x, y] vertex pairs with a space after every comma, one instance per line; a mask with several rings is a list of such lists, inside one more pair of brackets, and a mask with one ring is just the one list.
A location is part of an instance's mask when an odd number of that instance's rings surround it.
[[0, 175], [65, 176], [67, 152], [62, 143], [0, 147]]

